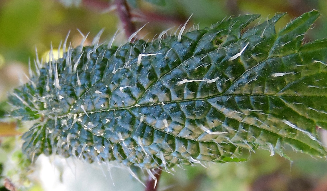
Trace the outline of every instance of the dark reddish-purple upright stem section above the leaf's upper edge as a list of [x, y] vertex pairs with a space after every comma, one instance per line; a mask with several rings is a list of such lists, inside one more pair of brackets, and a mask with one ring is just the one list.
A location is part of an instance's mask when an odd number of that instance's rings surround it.
[[127, 38], [129, 38], [136, 31], [136, 28], [131, 21], [129, 6], [127, 5], [125, 0], [115, 0], [115, 4], [117, 7], [116, 10], [118, 13], [118, 17], [122, 22], [125, 31], [125, 35]]

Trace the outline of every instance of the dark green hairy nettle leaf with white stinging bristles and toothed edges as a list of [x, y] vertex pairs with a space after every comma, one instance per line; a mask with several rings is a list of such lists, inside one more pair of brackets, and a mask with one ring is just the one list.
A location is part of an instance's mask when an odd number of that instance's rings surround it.
[[[284, 146], [326, 156], [327, 39], [303, 44], [311, 11], [276, 33], [259, 15], [120, 47], [69, 49], [9, 96], [11, 115], [34, 120], [30, 157], [59, 154], [144, 169], [243, 161], [244, 150]], [[65, 49], [65, 47], [64, 47]]]

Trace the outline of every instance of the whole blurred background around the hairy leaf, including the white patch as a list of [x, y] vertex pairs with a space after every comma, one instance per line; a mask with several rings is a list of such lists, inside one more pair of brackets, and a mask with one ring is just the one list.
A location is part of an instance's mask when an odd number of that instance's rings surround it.
[[[164, 6], [142, 0], [128, 1], [136, 27], [149, 22], [139, 33], [139, 36], [149, 40], [170, 27], [174, 27], [174, 32], [192, 13], [188, 26], [199, 24], [203, 28], [231, 15], [260, 13], [263, 22], [276, 12], [287, 12], [288, 15], [279, 21], [278, 30], [291, 19], [312, 9], [319, 10], [322, 15], [306, 35], [305, 41], [327, 36], [326, 0], [166, 0]], [[0, 0], [0, 118], [8, 110], [7, 92], [26, 82], [24, 73], [28, 74], [28, 59], [33, 61], [35, 58], [35, 47], [39, 56], [46, 59], [50, 43], [57, 47], [68, 31], [71, 31], [68, 40], [76, 47], [82, 39], [77, 29], [84, 34], [90, 32], [86, 45], [102, 28], [105, 30], [101, 42], [110, 41], [117, 29], [122, 31], [109, 0]], [[114, 43], [125, 41], [121, 33]], [[10, 127], [7, 122], [0, 122], [0, 134], [4, 135], [1, 129]], [[321, 132], [321, 137], [326, 140], [326, 133]], [[0, 139], [0, 162], [4, 165], [10, 164], [8, 156], [18, 141], [19, 137]], [[249, 161], [243, 163], [175, 168], [174, 176], [163, 173], [159, 190], [327, 191], [325, 159], [293, 153], [291, 149], [288, 156], [292, 163], [280, 156], [269, 155], [268, 151], [258, 150], [251, 154]], [[46, 170], [48, 168], [50, 170]], [[35, 186], [29, 190], [144, 190], [127, 170], [113, 169], [112, 180], [106, 167], [103, 169], [97, 165], [63, 159], [50, 159], [49, 162], [49, 159], [43, 158], [31, 173]]]

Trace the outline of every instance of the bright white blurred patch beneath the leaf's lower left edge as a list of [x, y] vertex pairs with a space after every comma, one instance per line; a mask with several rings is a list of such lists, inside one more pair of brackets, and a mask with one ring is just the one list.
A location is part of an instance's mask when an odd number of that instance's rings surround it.
[[120, 165], [114, 162], [89, 164], [74, 158], [40, 155], [37, 164], [44, 191], [144, 189], [140, 182], [130, 176], [127, 169], [119, 168]]

